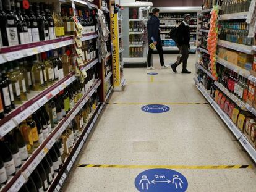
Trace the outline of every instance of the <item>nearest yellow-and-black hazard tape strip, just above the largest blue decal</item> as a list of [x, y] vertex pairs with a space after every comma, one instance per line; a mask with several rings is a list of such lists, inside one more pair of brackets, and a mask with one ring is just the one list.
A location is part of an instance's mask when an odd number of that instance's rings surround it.
[[96, 165], [96, 164], [79, 164], [78, 167], [85, 168], [127, 168], [127, 169], [247, 169], [252, 168], [252, 165]]

